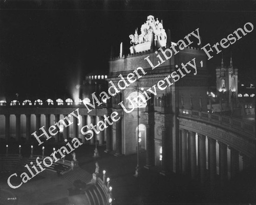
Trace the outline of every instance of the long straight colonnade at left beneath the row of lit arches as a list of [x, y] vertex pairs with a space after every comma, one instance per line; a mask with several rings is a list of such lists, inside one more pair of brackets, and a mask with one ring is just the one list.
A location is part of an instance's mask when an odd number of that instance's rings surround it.
[[[44, 121], [42, 120], [41, 115], [44, 115], [44, 119], [45, 119]], [[13, 117], [12, 117], [12, 120], [10, 120], [10, 116], [11, 116], [10, 114], [4, 115], [5, 126], [1, 127], [2, 129], [1, 133], [5, 135], [5, 139], [7, 141], [10, 139], [10, 136], [11, 136], [10, 133], [11, 132], [13, 133], [13, 131], [11, 131], [11, 124], [15, 126], [15, 140], [17, 141], [21, 140], [22, 134], [24, 135], [24, 133], [22, 133], [22, 130], [25, 130], [25, 136], [26, 136], [26, 139], [28, 140], [32, 137], [31, 134], [34, 132], [31, 130], [32, 123], [35, 123], [35, 131], [39, 136], [41, 134], [39, 130], [40, 127], [45, 126], [44, 129], [48, 131], [51, 125], [54, 125], [54, 123], [58, 122], [60, 119], [63, 119], [64, 117], [63, 115], [60, 115], [60, 114], [35, 114], [35, 120], [33, 119], [33, 121], [35, 122], [32, 122], [31, 114], [25, 114], [25, 118], [23, 117], [22, 119], [21, 119], [21, 114], [15, 114], [13, 115], [15, 116], [14, 120], [13, 120]], [[72, 137], [72, 138], [77, 137], [77, 138], [81, 138], [82, 141], [85, 142], [86, 141], [84, 138], [85, 136], [83, 136], [80, 132], [81, 127], [87, 124], [89, 125], [91, 123], [96, 124], [99, 120], [104, 121], [104, 118], [102, 116], [96, 117], [96, 116], [90, 116], [90, 115], [82, 115], [81, 124], [78, 126], [78, 119], [73, 117], [73, 123], [67, 127], [63, 126], [63, 130], [58, 132], [52, 138], [55, 140], [55, 142], [59, 142], [61, 141], [61, 135], [62, 135], [63, 137], [62, 140], [67, 139], [69, 137]], [[23, 123], [21, 123], [22, 121]], [[90, 142], [95, 143], [95, 140], [96, 138], [93, 137], [90, 140]], [[111, 147], [112, 147], [111, 126], [106, 128], [104, 131], [100, 132], [97, 135], [97, 140], [99, 142], [99, 145], [103, 145], [104, 142], [106, 141], [106, 150], [111, 150]]]

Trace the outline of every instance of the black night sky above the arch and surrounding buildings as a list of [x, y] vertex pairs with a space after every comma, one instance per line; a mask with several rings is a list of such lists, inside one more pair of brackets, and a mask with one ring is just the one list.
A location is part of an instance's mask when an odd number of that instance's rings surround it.
[[[199, 28], [203, 45], [214, 44], [246, 22], [250, 34], [223, 50], [239, 79], [255, 79], [256, 1], [1, 1], [0, 96], [70, 92], [86, 73], [108, 72], [111, 45], [129, 53], [129, 35], [147, 15], [163, 20], [172, 41]], [[140, 29], [139, 29], [140, 30]], [[221, 54], [208, 61], [210, 74]], [[245, 79], [245, 80], [244, 80]], [[214, 83], [214, 77], [210, 80]]]

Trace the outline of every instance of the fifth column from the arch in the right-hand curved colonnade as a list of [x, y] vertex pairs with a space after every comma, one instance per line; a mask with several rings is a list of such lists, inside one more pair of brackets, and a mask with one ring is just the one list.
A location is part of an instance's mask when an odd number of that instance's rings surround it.
[[219, 143], [219, 156], [220, 156], [220, 182], [224, 185], [227, 182], [227, 145], [223, 142]]

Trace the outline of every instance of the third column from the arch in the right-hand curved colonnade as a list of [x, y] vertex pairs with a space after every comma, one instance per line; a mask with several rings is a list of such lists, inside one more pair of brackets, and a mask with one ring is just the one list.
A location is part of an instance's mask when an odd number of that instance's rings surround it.
[[198, 134], [198, 158], [200, 167], [200, 182], [203, 184], [206, 180], [206, 147], [205, 136]]

